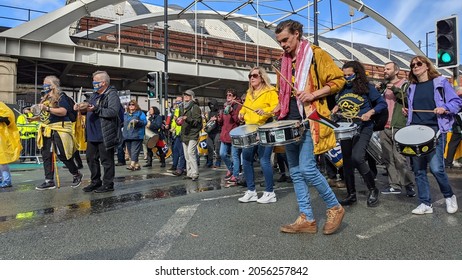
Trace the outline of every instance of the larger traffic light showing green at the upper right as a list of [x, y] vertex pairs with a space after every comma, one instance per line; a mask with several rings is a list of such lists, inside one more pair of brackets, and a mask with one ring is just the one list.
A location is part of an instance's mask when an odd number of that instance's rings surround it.
[[436, 66], [451, 68], [459, 66], [459, 40], [457, 16], [436, 22]]

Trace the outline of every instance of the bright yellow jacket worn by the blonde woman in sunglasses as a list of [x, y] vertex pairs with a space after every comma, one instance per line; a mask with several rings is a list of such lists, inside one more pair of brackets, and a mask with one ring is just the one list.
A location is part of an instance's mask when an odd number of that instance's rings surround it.
[[[270, 86], [258, 91], [254, 91], [253, 96], [249, 91], [247, 91], [244, 106], [242, 106], [239, 114], [244, 117], [245, 124], [262, 125], [272, 117], [272, 112], [278, 103], [278, 93], [275, 87]], [[263, 114], [260, 116], [253, 111], [258, 109], [261, 109], [268, 114]]]

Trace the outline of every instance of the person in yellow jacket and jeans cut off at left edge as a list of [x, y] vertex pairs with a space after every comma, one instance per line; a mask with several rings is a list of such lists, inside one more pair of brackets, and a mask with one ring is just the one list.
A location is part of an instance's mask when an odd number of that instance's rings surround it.
[[19, 139], [19, 131], [16, 127], [13, 111], [0, 101], [0, 188], [9, 188], [11, 173], [8, 163], [19, 159], [22, 145]]

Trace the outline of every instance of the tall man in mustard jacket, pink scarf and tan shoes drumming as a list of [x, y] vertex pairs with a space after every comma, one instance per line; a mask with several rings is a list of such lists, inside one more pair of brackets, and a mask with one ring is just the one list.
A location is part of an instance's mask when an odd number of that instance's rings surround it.
[[[324, 104], [327, 108], [325, 97], [335, 94], [345, 84], [342, 71], [334, 64], [332, 58], [321, 48], [302, 38], [302, 34], [303, 25], [297, 21], [283, 21], [276, 27], [276, 39], [284, 49], [280, 74], [285, 79], [279, 79], [279, 105], [275, 109], [280, 120], [301, 121], [306, 118], [305, 110], [312, 105]], [[295, 90], [286, 80], [292, 83]], [[323, 140], [323, 131], [322, 125], [306, 124], [301, 141], [286, 146], [290, 177], [294, 183], [300, 215], [293, 224], [282, 226], [282, 232], [317, 232], [307, 182], [318, 190], [320, 197], [327, 204], [327, 219], [323, 233], [334, 233], [342, 223], [345, 210], [316, 166], [314, 152], [317, 150], [318, 153], [323, 153], [331, 148], [328, 147], [329, 143], [326, 144]], [[313, 142], [312, 138], [316, 142]], [[332, 138], [330, 139], [332, 141]], [[332, 144], [335, 145], [335, 137], [333, 141]]]

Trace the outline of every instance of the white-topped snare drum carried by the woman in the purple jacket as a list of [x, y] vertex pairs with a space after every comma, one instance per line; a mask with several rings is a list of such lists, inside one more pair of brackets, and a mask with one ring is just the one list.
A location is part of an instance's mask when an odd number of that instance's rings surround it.
[[394, 136], [396, 149], [405, 156], [421, 156], [436, 148], [435, 131], [424, 125], [401, 128]]

